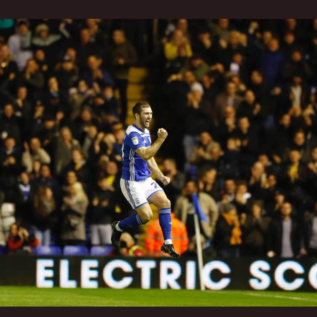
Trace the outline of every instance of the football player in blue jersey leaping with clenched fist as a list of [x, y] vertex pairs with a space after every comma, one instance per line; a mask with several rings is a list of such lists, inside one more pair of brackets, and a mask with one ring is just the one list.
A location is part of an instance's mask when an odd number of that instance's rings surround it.
[[159, 224], [164, 236], [161, 251], [177, 258], [179, 254], [171, 240], [171, 202], [163, 189], [151, 178], [153, 172], [165, 186], [171, 181], [163, 175], [154, 159], [167, 137], [167, 132], [165, 129], [159, 129], [158, 138], [152, 144], [150, 131], [147, 129], [152, 120], [151, 106], [147, 102], [137, 102], [132, 111], [135, 121], [126, 129], [122, 143], [120, 187], [126, 200], [137, 213], [112, 223], [111, 242], [115, 248], [119, 248], [120, 236], [125, 229], [150, 221], [153, 213], [149, 203], [152, 203], [159, 209]]

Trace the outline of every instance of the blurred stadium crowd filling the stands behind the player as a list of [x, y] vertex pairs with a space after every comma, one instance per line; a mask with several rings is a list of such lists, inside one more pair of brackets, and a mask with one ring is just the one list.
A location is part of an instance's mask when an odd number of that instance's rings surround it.
[[[118, 21], [0, 20], [0, 244], [111, 244], [112, 221], [133, 212], [120, 169], [139, 65], [160, 69], [176, 251], [197, 252], [198, 194], [205, 256], [316, 256], [317, 19], [160, 25], [144, 56]], [[163, 256], [158, 220], [144, 247], [138, 234], [120, 254]]]

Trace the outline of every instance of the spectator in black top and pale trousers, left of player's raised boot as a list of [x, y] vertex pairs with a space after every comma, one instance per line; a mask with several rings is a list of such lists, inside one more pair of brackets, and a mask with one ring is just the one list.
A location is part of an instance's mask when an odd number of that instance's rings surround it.
[[111, 223], [114, 220], [115, 204], [111, 186], [105, 176], [98, 180], [98, 188], [91, 195], [91, 244], [111, 244]]

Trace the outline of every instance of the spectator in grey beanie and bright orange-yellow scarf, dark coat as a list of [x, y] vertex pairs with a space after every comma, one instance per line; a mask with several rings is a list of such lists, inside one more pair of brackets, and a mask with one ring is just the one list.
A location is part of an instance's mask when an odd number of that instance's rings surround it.
[[217, 252], [222, 257], [239, 257], [242, 244], [242, 231], [238, 219], [236, 207], [229, 203], [223, 205], [216, 223], [214, 243]]

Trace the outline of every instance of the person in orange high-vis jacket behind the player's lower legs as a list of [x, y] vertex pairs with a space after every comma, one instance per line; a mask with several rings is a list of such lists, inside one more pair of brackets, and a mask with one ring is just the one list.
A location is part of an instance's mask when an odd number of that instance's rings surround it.
[[[175, 218], [175, 214], [171, 213], [172, 217], [172, 240], [175, 251], [182, 254], [188, 249], [188, 235], [183, 222]], [[161, 246], [164, 242], [163, 233], [159, 225], [159, 219], [152, 221], [146, 231], [145, 248], [149, 256], [162, 256]]]

